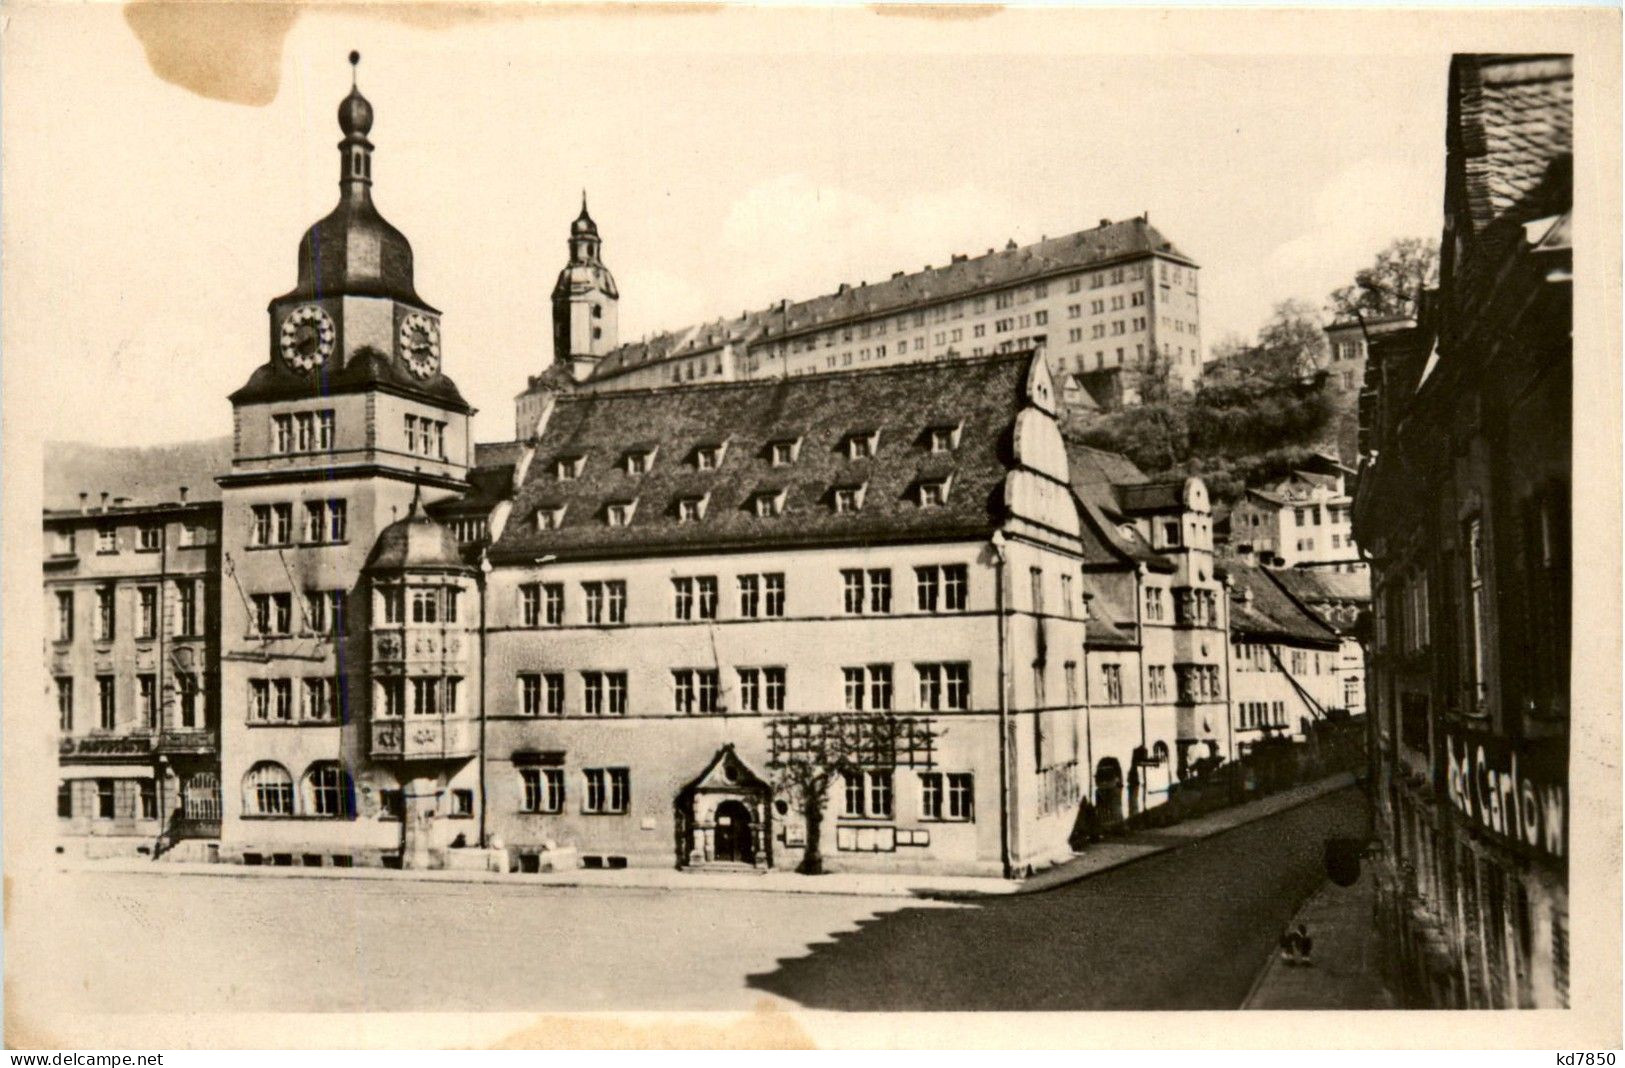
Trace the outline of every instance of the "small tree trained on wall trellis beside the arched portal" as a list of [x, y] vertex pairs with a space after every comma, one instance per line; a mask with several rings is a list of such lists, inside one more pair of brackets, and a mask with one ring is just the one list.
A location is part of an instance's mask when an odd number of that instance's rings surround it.
[[769, 720], [774, 788], [806, 821], [808, 844], [796, 871], [824, 873], [824, 808], [835, 782], [864, 771], [933, 767], [941, 733], [930, 719], [830, 712]]

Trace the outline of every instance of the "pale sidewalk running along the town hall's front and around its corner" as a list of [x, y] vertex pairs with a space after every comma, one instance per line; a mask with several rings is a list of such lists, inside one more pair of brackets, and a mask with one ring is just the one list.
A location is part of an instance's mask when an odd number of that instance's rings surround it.
[[488, 871], [392, 871], [388, 868], [276, 868], [242, 865], [208, 865], [153, 860], [76, 860], [63, 863], [70, 871], [164, 871], [213, 878], [270, 879], [362, 879], [421, 883], [492, 883], [500, 886], [593, 886], [609, 889], [713, 889], [754, 891], [769, 894], [842, 894], [856, 897], [996, 897], [1032, 894], [1092, 875], [1118, 868], [1146, 857], [1155, 857], [1181, 845], [1222, 834], [1233, 827], [1266, 819], [1276, 813], [1306, 805], [1354, 784], [1354, 775], [1332, 775], [1292, 790], [1282, 790], [1258, 801], [1237, 805], [1198, 819], [1159, 831], [1142, 831], [1121, 839], [1090, 845], [1086, 852], [1027, 879], [957, 875], [869, 875], [838, 871], [821, 876], [795, 871], [679, 871], [676, 868], [618, 868], [549, 871], [543, 875]]

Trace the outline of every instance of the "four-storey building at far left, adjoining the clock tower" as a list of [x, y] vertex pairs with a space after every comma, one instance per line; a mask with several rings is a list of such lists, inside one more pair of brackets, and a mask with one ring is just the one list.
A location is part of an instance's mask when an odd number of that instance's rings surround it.
[[58, 840], [86, 857], [219, 834], [219, 504], [46, 512]]

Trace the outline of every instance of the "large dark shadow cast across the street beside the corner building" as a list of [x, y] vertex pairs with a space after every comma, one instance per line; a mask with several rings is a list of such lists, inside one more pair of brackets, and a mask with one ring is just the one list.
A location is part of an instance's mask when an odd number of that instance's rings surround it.
[[817, 1009], [1233, 1009], [1324, 839], [1365, 831], [1350, 787], [1053, 891], [886, 912], [748, 982]]

